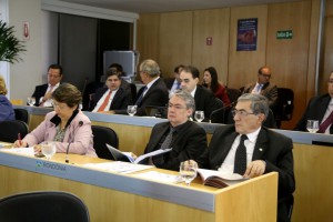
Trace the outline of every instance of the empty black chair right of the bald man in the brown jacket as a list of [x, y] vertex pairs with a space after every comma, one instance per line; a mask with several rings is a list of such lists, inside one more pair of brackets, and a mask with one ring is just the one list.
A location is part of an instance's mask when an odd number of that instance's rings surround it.
[[278, 101], [275, 105], [275, 121], [280, 129], [282, 121], [292, 119], [294, 110], [294, 91], [287, 88], [278, 88]]

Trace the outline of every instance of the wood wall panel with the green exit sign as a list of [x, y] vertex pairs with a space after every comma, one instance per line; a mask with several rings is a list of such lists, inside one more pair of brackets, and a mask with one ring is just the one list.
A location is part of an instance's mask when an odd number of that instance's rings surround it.
[[[305, 87], [310, 23], [311, 1], [269, 6], [266, 64], [272, 68], [272, 81], [278, 87], [293, 89], [295, 97], [293, 119], [284, 122], [290, 125], [289, 129], [294, 127], [304, 112], [304, 95], [310, 90]], [[276, 31], [281, 30], [292, 30], [292, 39], [276, 39]], [[312, 85], [314, 88], [314, 83]]]

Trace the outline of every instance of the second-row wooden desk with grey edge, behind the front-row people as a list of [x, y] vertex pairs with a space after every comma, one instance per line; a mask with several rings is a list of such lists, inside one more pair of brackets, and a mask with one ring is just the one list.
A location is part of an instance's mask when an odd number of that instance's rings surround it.
[[[52, 109], [16, 105], [30, 113], [29, 129], [33, 130]], [[84, 112], [92, 124], [112, 128], [119, 137], [121, 151], [143, 153], [149, 141], [151, 129], [158, 122], [167, 121], [157, 118], [128, 117]], [[210, 141], [214, 130], [223, 127], [214, 123], [199, 123]], [[294, 173], [296, 190], [294, 192], [293, 222], [331, 222], [333, 205], [333, 135], [290, 130], [274, 131], [293, 140]], [[195, 181], [194, 181], [195, 182]], [[224, 190], [224, 189], [222, 189]], [[249, 220], [250, 221], [250, 220]], [[255, 220], [251, 220], [255, 221]]]

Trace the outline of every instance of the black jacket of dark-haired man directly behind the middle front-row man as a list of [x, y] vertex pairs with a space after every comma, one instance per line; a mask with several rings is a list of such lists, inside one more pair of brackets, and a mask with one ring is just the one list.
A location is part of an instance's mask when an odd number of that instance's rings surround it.
[[196, 85], [194, 100], [195, 110], [201, 110], [204, 112], [204, 122], [210, 120], [212, 111], [220, 108], [215, 101], [214, 93], [202, 85]]

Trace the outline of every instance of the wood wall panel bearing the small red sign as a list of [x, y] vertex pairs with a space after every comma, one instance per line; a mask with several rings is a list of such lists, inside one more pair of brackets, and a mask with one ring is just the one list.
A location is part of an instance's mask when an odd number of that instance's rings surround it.
[[[203, 70], [214, 67], [219, 80], [226, 83], [229, 52], [230, 8], [198, 10], [193, 12], [192, 64], [203, 77]], [[206, 44], [212, 38], [212, 44]]]

